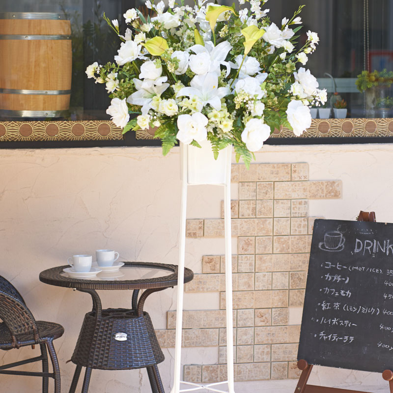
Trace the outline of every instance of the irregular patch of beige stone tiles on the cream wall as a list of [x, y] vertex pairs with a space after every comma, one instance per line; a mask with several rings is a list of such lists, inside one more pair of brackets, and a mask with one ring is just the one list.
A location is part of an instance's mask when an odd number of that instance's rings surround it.
[[[301, 308], [306, 286], [312, 225], [309, 199], [341, 197], [340, 181], [309, 181], [308, 164], [232, 165], [239, 200], [231, 202], [235, 381], [296, 378]], [[221, 218], [187, 220], [188, 237], [223, 237]], [[236, 250], [232, 251], [236, 253]], [[220, 309], [185, 310], [184, 347], [217, 347], [219, 364], [185, 365], [184, 380], [226, 379], [225, 257], [205, 255], [202, 274], [186, 292], [220, 292]], [[156, 331], [173, 347], [176, 312], [167, 330]]]

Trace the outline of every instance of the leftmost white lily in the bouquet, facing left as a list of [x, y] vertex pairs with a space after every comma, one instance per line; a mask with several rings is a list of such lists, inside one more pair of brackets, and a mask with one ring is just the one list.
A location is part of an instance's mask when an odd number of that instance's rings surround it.
[[153, 97], [161, 95], [169, 87], [168, 83], [164, 83], [167, 80], [167, 77], [160, 77], [156, 80], [145, 79], [144, 81], [134, 78], [134, 84], [138, 91], [132, 93], [127, 98], [127, 102], [131, 105], [141, 106], [142, 115], [146, 115], [151, 108]]

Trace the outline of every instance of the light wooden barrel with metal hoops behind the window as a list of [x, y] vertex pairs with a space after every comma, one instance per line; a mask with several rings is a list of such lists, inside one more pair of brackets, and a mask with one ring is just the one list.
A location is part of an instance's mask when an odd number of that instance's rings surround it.
[[0, 13], [0, 116], [66, 115], [71, 69], [71, 24], [65, 14]]

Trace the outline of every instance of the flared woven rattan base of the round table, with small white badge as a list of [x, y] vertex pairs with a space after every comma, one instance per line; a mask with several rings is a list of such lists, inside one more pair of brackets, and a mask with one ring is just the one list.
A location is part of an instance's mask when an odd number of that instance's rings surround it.
[[[118, 341], [116, 333], [127, 339]], [[96, 319], [88, 312], [71, 358], [76, 365], [102, 370], [127, 370], [157, 365], [164, 360], [150, 316], [131, 309], [104, 309]]]

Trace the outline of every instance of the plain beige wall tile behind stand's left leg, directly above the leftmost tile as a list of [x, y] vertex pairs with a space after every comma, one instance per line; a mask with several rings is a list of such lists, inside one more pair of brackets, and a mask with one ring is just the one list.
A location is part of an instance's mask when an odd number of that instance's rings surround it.
[[[245, 309], [245, 307], [243, 307]], [[225, 327], [225, 310], [184, 310], [183, 329]], [[167, 312], [167, 328], [176, 328], [176, 311]]]

